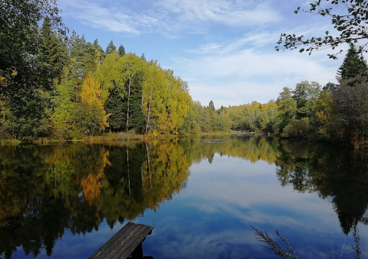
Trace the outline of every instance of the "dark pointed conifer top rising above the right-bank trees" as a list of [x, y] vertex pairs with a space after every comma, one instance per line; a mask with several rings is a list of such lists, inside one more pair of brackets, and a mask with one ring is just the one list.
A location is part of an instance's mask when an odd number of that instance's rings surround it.
[[367, 61], [361, 55], [359, 56], [354, 46], [351, 46], [342, 65], [337, 70], [336, 79], [341, 83], [344, 80], [349, 80], [360, 76], [368, 71]]

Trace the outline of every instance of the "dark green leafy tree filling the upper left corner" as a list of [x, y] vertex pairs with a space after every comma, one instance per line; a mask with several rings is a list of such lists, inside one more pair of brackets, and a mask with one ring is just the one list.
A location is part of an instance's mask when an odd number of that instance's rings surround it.
[[0, 8], [0, 94], [17, 118], [41, 118], [45, 98], [39, 90], [54, 86], [42, 62], [39, 22], [50, 18], [51, 27], [62, 36], [67, 27], [61, 21], [56, 0], [1, 2]]

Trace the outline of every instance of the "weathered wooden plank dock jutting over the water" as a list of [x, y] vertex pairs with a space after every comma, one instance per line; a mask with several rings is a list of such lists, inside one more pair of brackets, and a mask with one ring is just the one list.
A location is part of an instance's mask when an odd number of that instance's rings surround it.
[[128, 222], [89, 259], [125, 259], [133, 252], [138, 253], [137, 257], [143, 258], [142, 242], [147, 235], [151, 235], [152, 229], [151, 226]]

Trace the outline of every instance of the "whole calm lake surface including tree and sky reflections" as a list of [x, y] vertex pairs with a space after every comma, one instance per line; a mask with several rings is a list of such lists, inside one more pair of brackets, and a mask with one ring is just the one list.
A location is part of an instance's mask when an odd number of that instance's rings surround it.
[[87, 258], [128, 221], [154, 227], [156, 259], [278, 258], [250, 225], [282, 231], [298, 258], [367, 258], [367, 206], [368, 154], [318, 143], [0, 147], [1, 258]]

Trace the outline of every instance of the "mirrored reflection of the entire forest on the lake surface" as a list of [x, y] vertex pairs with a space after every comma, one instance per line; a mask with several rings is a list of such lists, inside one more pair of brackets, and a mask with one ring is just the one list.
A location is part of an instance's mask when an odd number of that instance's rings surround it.
[[1, 147], [0, 255], [21, 246], [25, 255], [50, 256], [65, 231], [86, 235], [104, 220], [112, 229], [158, 211], [187, 186], [191, 165], [216, 154], [276, 165], [281, 186], [332, 204], [344, 234], [368, 223], [368, 155], [354, 150], [241, 136]]

